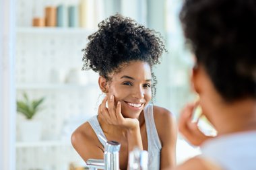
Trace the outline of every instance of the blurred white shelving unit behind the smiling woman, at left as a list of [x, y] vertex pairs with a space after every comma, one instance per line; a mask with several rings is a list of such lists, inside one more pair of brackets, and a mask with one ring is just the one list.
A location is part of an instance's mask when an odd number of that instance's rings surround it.
[[98, 75], [81, 71], [81, 50], [86, 47], [88, 35], [95, 30], [32, 27], [29, 23], [33, 10], [43, 9], [46, 4], [46, 0], [19, 0], [17, 3], [17, 98], [24, 92], [29, 98], [45, 98], [43, 110], [32, 120], [42, 123], [40, 140], [22, 140], [20, 127], [24, 117], [17, 116], [17, 170], [68, 170], [70, 163], [84, 166], [71, 146], [70, 136], [75, 128], [96, 114], [100, 96]]

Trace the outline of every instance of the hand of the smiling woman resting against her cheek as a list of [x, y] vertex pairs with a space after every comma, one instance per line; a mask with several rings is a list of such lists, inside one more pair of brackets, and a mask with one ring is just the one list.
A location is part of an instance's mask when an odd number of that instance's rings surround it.
[[[108, 108], [106, 108], [106, 101], [108, 101]], [[105, 97], [99, 106], [98, 115], [101, 116], [108, 124], [119, 126], [127, 130], [135, 130], [139, 128], [139, 120], [132, 118], [124, 118], [121, 114], [121, 102], [115, 105], [114, 95], [110, 98]]]

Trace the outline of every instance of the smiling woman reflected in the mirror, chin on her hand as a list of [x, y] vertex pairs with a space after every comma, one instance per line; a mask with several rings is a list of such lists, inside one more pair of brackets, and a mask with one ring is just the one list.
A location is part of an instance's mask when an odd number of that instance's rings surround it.
[[84, 161], [103, 159], [104, 141], [97, 136], [102, 134], [121, 143], [120, 169], [127, 169], [129, 152], [135, 146], [148, 151], [148, 169], [174, 167], [174, 116], [150, 102], [156, 93], [152, 67], [165, 50], [160, 36], [121, 15], [98, 26], [84, 49], [84, 69], [99, 73], [98, 84], [106, 97], [98, 115], [73, 132], [75, 150]]

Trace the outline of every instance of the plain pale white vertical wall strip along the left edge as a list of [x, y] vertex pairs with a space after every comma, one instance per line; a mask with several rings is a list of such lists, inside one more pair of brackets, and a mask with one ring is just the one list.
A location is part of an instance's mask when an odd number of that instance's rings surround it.
[[0, 169], [15, 170], [14, 0], [0, 0]]

